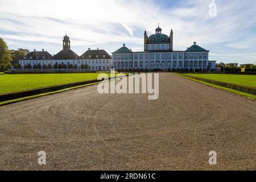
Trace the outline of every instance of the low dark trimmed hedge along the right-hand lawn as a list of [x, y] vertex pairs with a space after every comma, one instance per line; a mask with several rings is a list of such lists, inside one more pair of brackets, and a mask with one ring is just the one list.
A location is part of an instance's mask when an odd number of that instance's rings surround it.
[[254, 96], [256, 96], [256, 89], [255, 88], [245, 87], [245, 86], [241, 86], [241, 85], [234, 85], [234, 84], [230, 84], [230, 83], [227, 83], [227, 82], [209, 80], [209, 79], [206, 79], [206, 78], [198, 78], [198, 77], [189, 76], [189, 75], [183, 75], [183, 76], [193, 78], [195, 80], [208, 82], [209, 84], [214, 84], [214, 85], [223, 86], [223, 87], [226, 87], [226, 88], [229, 88], [229, 89], [238, 90], [240, 92], [253, 94]]

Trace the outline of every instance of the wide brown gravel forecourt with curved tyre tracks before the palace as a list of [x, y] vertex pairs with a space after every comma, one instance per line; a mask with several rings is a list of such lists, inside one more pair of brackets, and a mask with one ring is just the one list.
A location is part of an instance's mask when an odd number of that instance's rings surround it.
[[256, 101], [172, 73], [147, 96], [94, 85], [2, 106], [0, 169], [256, 169]]

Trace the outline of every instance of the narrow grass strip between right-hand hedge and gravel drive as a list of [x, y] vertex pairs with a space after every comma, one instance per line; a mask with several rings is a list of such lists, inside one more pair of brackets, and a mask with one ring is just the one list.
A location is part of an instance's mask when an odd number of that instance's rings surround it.
[[183, 75], [180, 75], [180, 74], [177, 74], [177, 73], [173, 73], [173, 74], [176, 75], [176, 76], [179, 76], [179, 77], [187, 78], [189, 80], [200, 82], [201, 84], [205, 84], [205, 85], [208, 85], [208, 86], [212, 86], [214, 88], [226, 90], [228, 92], [231, 92], [231, 93], [234, 93], [234, 94], [237, 94], [237, 95], [240, 95], [240, 96], [245, 96], [245, 97], [253, 98], [254, 100], [256, 100], [256, 96], [254, 96], [253, 94], [249, 94], [249, 93], [245, 93], [245, 92], [240, 92], [240, 91], [234, 90], [234, 89], [229, 89], [229, 88], [226, 88], [224, 86], [218, 86], [218, 85], [214, 85], [214, 84], [209, 84], [208, 82], [204, 82], [204, 81], [196, 80], [196, 79], [193, 79], [193, 78], [189, 78], [187, 76], [183, 76]]

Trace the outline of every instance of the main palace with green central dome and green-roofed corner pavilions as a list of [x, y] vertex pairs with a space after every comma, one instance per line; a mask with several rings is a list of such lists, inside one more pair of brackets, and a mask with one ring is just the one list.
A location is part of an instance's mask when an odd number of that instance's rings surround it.
[[158, 26], [154, 35], [144, 32], [144, 51], [133, 52], [125, 44], [112, 53], [113, 68], [121, 70], [194, 70], [208, 71], [216, 68], [216, 61], [209, 61], [209, 51], [196, 42], [186, 51], [174, 51], [174, 32], [170, 36], [162, 34]]

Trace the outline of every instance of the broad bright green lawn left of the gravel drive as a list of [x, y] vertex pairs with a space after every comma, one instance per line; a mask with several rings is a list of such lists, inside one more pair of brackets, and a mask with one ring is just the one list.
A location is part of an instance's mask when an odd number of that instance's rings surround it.
[[[0, 94], [20, 92], [72, 82], [97, 80], [99, 73], [0, 75]], [[108, 75], [110, 75], [108, 73]]]

